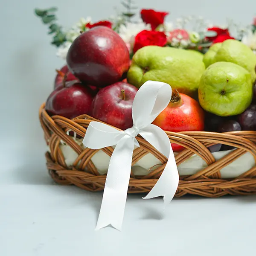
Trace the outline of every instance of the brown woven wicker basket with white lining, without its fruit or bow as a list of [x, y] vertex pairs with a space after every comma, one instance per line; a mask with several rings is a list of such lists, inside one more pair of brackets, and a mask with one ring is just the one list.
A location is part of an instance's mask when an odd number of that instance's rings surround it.
[[[45, 104], [41, 105], [39, 117], [49, 148], [45, 156], [47, 169], [52, 179], [62, 185], [73, 184], [89, 191], [103, 190], [113, 147], [93, 150], [85, 148], [81, 143], [89, 123], [96, 119], [87, 115], [72, 120], [62, 116], [50, 117], [44, 106]], [[256, 193], [256, 131], [235, 131], [222, 134], [186, 131], [166, 132], [166, 134], [171, 143], [185, 147], [183, 151], [175, 154], [178, 169], [185, 163], [187, 163], [187, 168], [191, 166], [194, 169], [189, 174], [186, 168], [179, 169], [180, 182], [176, 197], [193, 194], [213, 198], [223, 195]], [[150, 191], [163, 172], [167, 161], [165, 156], [142, 137], [138, 136], [137, 140], [140, 148], [134, 149], [128, 193]], [[216, 159], [215, 153], [211, 153], [207, 147], [218, 143], [233, 146], [235, 149], [226, 151], [224, 156]], [[98, 157], [96, 157], [97, 154]], [[248, 163], [247, 158], [244, 158], [245, 155], [250, 158], [251, 165], [241, 172], [240, 167], [237, 166], [239, 164], [244, 166]], [[193, 157], [197, 158], [191, 161]], [[139, 164], [143, 158], [144, 163]], [[104, 159], [106, 163], [102, 166]], [[151, 159], [154, 160], [151, 161]], [[199, 162], [204, 163], [202, 168], [196, 166]], [[234, 171], [232, 168], [229, 171], [235, 172], [235, 175], [233, 173], [233, 176], [227, 177], [222, 170], [232, 166], [234, 162], [239, 164], [235, 165]], [[147, 170], [145, 170], [145, 165], [150, 163], [153, 166], [146, 167]], [[143, 169], [141, 165], [144, 165], [143, 172], [140, 171]]]

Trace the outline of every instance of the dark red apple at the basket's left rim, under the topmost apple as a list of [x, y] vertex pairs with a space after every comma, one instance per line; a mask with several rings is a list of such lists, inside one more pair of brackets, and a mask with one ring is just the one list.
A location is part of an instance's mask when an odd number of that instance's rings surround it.
[[90, 114], [93, 93], [89, 87], [69, 81], [65, 87], [55, 89], [48, 97], [45, 109], [50, 116], [60, 115], [69, 119]]

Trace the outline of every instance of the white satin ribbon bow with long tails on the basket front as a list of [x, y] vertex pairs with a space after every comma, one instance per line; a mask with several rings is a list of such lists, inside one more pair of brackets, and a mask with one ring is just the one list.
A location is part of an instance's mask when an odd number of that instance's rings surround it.
[[179, 183], [179, 174], [172, 147], [167, 134], [158, 126], [151, 124], [167, 107], [171, 96], [172, 88], [169, 84], [147, 81], [140, 87], [134, 98], [132, 128], [118, 131], [101, 122], [90, 122], [83, 140], [87, 148], [100, 149], [116, 145], [108, 166], [96, 230], [109, 224], [121, 230], [134, 145], [140, 146], [135, 139], [138, 134], [168, 158], [162, 175], [143, 199], [163, 196], [164, 207], [166, 207], [174, 197]]

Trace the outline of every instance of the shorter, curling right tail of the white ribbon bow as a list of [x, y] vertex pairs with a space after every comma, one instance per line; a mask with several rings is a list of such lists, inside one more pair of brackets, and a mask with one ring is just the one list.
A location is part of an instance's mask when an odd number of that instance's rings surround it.
[[167, 134], [156, 125], [148, 125], [140, 135], [168, 158], [162, 175], [143, 199], [163, 196], [164, 208], [172, 201], [179, 184], [179, 173], [172, 146]]

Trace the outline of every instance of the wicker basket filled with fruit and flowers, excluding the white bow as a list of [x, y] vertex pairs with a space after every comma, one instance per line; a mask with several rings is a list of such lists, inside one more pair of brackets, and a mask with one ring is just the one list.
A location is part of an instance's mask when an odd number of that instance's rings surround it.
[[[95, 184], [88, 188], [89, 181], [75, 180], [72, 175], [68, 181], [61, 180], [65, 178], [65, 172], [61, 173], [61, 168], [54, 164], [58, 162], [66, 170], [105, 175], [111, 149], [94, 152], [90, 156], [92, 162], [86, 160], [88, 152], [84, 151], [82, 139], [88, 124], [91, 120], [99, 120], [123, 131], [131, 128], [134, 125], [132, 105], [137, 91], [147, 81], [158, 81], [170, 85], [172, 97], [152, 123], [166, 131], [172, 142], [176, 162], [181, 163], [178, 168], [180, 180], [196, 181], [207, 177], [227, 178], [229, 182], [228, 179], [239, 177], [248, 169], [251, 178], [256, 159], [256, 19], [245, 28], [238, 29], [233, 25], [237, 30], [232, 34], [231, 25], [225, 28], [210, 26], [201, 17], [178, 19], [174, 26], [166, 22], [168, 12], [152, 9], [141, 10], [140, 19], [134, 21], [131, 1], [124, 5], [125, 12], [117, 17], [96, 23], [90, 18], [81, 19], [67, 31], [56, 23], [56, 8], [35, 9], [36, 15], [49, 25], [52, 44], [58, 48], [57, 55], [66, 61], [56, 70], [53, 91], [41, 108], [47, 143], [51, 140], [48, 169], [58, 172], [58, 177], [56, 172], [52, 177], [60, 183], [73, 183], [91, 190], [103, 189], [104, 180], [99, 182], [101, 186], [98, 188]], [[186, 24], [193, 22], [199, 24], [198, 28], [186, 29]], [[44, 124], [46, 115], [50, 121]], [[64, 119], [58, 119], [58, 116]], [[63, 128], [67, 137], [55, 132], [56, 127], [52, 128], [57, 119], [58, 128], [63, 122], [70, 122], [71, 129]], [[226, 137], [218, 135], [221, 133], [227, 133]], [[205, 140], [200, 140], [201, 134], [205, 134]], [[241, 135], [241, 145], [234, 142], [234, 135]], [[77, 151], [74, 150], [76, 145], [80, 147]], [[246, 151], [255, 154], [246, 158], [250, 163], [246, 170], [236, 172], [242, 165], [236, 163], [232, 167], [235, 169], [233, 173], [225, 176], [222, 172], [220, 176], [221, 169], [232, 162], [230, 157], [236, 160]], [[164, 158], [136, 152], [132, 177], [157, 179], [159, 175], [155, 170], [164, 163]], [[195, 154], [200, 155], [204, 163], [193, 169], [188, 166], [200, 162], [198, 158], [192, 159]], [[224, 156], [226, 164], [216, 164], [216, 170], [212, 167], [215, 171], [208, 168], [218, 160], [221, 163]], [[196, 175], [204, 167], [209, 170]], [[161, 172], [163, 169], [157, 170]], [[193, 178], [189, 180], [189, 176]], [[152, 185], [142, 187], [139, 191], [148, 191]], [[204, 191], [204, 188], [198, 190]], [[213, 190], [218, 196], [235, 194], [232, 189], [224, 189], [224, 193], [218, 193], [218, 187]], [[254, 186], [247, 192], [255, 190]], [[196, 189], [188, 188], [178, 190], [177, 195], [186, 193], [200, 194]], [[214, 194], [207, 193], [201, 194]]]

